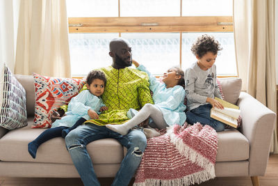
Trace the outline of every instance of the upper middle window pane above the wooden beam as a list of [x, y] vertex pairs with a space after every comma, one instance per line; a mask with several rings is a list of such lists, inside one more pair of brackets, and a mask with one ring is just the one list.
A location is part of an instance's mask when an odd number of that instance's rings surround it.
[[179, 16], [180, 0], [120, 0], [121, 17]]

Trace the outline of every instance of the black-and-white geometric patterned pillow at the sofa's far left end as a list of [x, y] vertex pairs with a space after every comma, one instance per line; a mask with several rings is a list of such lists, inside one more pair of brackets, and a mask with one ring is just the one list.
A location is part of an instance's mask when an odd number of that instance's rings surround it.
[[13, 130], [27, 125], [26, 93], [10, 69], [0, 66], [0, 126]]

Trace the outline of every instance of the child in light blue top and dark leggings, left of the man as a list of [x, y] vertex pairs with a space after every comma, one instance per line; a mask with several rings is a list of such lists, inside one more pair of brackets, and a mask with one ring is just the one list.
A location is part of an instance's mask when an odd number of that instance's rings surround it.
[[81, 91], [76, 95], [67, 107], [65, 116], [57, 119], [52, 123], [51, 128], [44, 130], [40, 136], [28, 144], [28, 152], [35, 158], [39, 146], [55, 137], [63, 137], [71, 130], [83, 124], [90, 118], [97, 119], [101, 111], [108, 108], [102, 102], [100, 95], [104, 93], [104, 86], [106, 84], [106, 77], [104, 72], [100, 70], [92, 70], [86, 79], [86, 86], [88, 90]]

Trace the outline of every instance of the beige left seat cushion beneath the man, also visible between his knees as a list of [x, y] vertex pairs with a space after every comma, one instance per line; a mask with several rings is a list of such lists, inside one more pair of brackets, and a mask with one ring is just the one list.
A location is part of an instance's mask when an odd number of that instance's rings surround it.
[[[56, 137], [38, 148], [35, 159], [28, 153], [28, 143], [47, 129], [32, 129], [33, 118], [28, 118], [28, 126], [12, 130], [0, 139], [0, 160], [6, 162], [48, 162], [72, 164], [65, 147], [65, 139]], [[122, 162], [123, 148], [115, 139], [100, 139], [87, 146], [94, 164], [118, 164]]]

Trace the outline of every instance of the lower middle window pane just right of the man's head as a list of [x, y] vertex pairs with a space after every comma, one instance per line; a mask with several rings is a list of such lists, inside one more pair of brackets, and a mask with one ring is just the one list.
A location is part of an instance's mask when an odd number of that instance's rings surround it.
[[132, 47], [133, 59], [153, 75], [179, 65], [179, 33], [122, 33]]

